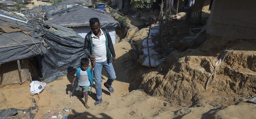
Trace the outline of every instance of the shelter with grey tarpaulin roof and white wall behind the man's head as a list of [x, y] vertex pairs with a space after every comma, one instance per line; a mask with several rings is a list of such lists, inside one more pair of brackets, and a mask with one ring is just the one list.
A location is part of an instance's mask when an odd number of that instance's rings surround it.
[[115, 28], [120, 27], [120, 25], [113, 17], [100, 9], [75, 6], [58, 11], [51, 11], [46, 14], [45, 21], [72, 28], [80, 36], [85, 38], [86, 34], [91, 31], [89, 20], [93, 17], [99, 19], [100, 27], [107, 29], [113, 44], [115, 44]]

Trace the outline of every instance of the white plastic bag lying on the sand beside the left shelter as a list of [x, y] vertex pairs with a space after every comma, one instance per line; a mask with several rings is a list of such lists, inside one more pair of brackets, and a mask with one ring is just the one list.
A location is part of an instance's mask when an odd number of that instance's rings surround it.
[[30, 95], [39, 94], [44, 90], [46, 83], [34, 80], [30, 83]]

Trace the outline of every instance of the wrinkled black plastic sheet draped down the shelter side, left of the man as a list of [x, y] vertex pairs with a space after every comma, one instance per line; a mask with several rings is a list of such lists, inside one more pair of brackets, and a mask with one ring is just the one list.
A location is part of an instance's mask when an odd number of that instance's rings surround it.
[[37, 55], [43, 82], [50, 83], [80, 65], [80, 59], [87, 57], [84, 52], [84, 39], [72, 29], [53, 24], [44, 24], [56, 30], [45, 29], [50, 49], [43, 55]]

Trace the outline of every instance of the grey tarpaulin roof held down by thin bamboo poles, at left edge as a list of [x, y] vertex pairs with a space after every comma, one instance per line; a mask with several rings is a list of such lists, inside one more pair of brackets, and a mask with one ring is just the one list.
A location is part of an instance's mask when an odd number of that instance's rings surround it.
[[36, 25], [34, 21], [29, 20], [28, 23], [22, 23], [1, 16], [0, 64], [33, 57], [45, 52], [44, 34], [40, 30], [43, 30], [42, 27]]

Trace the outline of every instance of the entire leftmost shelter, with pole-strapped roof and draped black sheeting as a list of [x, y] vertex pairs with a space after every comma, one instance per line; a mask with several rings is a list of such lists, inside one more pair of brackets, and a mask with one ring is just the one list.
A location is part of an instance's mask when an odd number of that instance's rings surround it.
[[30, 57], [36, 59], [35, 67], [46, 83], [65, 76], [86, 57], [84, 39], [70, 28], [2, 9], [0, 15], [0, 87], [25, 82]]

